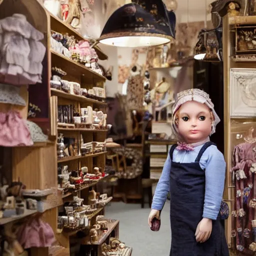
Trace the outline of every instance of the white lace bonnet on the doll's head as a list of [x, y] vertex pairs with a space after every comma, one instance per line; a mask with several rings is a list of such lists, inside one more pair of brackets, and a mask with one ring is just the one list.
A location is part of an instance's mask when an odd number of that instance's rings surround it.
[[211, 129], [210, 135], [213, 134], [215, 132], [216, 125], [220, 122], [220, 119], [214, 110], [214, 105], [211, 102], [209, 95], [205, 91], [200, 90], [200, 89], [188, 89], [188, 90], [183, 90], [183, 91], [180, 91], [179, 93], [177, 93], [175, 103], [172, 108], [172, 130], [173, 130], [173, 132], [176, 135], [178, 134], [178, 127], [175, 123], [175, 118], [174, 118], [176, 111], [183, 103], [185, 103], [187, 101], [191, 101], [191, 100], [197, 101], [202, 104], [205, 103], [209, 107], [209, 109], [212, 111], [214, 120], [212, 121], [212, 129]]

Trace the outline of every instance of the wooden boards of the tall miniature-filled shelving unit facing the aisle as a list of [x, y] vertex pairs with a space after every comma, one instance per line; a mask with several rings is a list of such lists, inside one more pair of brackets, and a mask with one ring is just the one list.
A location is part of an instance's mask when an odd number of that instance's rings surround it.
[[[76, 39], [81, 40], [83, 39], [82, 36], [77, 33], [74, 29], [72, 29], [69, 25], [62, 22], [60, 19], [52, 16], [50, 14], [50, 29], [56, 32], [65, 33], [73, 35]], [[94, 47], [100, 59], [107, 59], [107, 56], [98, 48]], [[92, 88], [93, 86], [104, 87], [105, 77], [102, 75], [94, 72], [90, 68], [83, 66], [80, 63], [76, 63], [75, 61], [65, 57], [64, 55], [58, 54], [53, 50], [50, 51], [51, 55], [51, 66], [60, 67], [64, 70], [67, 75], [65, 76], [66, 80], [78, 82], [82, 88]], [[91, 99], [84, 96], [78, 96], [63, 92], [61, 90], [57, 90], [54, 88], [50, 88], [52, 102], [51, 104], [51, 112], [55, 115], [57, 111], [57, 105], [74, 105], [75, 109], [80, 109], [81, 107], [91, 106], [93, 109], [97, 108], [106, 112], [107, 104], [102, 100]], [[62, 133], [64, 137], [72, 137], [78, 141], [78, 155], [76, 156], [68, 156], [62, 159], [57, 160], [57, 165], [68, 165], [68, 169], [78, 169], [80, 167], [86, 166], [88, 168], [88, 172], [92, 173], [93, 167], [101, 167], [102, 169], [105, 166], [105, 155], [106, 152], [98, 152], [98, 153], [91, 153], [81, 155], [79, 150], [79, 143], [80, 143], [80, 135], [83, 137], [83, 141], [90, 142], [90, 141], [99, 141], [103, 142], [106, 138], [107, 130], [105, 129], [89, 129], [89, 128], [75, 128], [75, 127], [60, 127], [56, 122], [54, 122], [54, 129], [56, 133]], [[100, 178], [98, 180], [93, 181], [90, 184], [82, 186], [81, 188], [73, 191], [68, 192], [62, 196], [63, 201], [68, 201], [72, 198], [73, 194], [78, 195], [80, 198], [84, 199], [84, 204], [88, 201], [88, 191], [89, 189], [95, 189], [97, 184], [101, 182], [104, 178]], [[111, 201], [112, 197], [108, 197], [107, 201], [105, 202], [104, 206]], [[90, 228], [93, 224], [95, 224], [96, 216], [98, 214], [104, 214], [104, 207], [99, 207], [96, 209], [91, 215], [88, 215], [88, 219], [90, 220]], [[87, 228], [87, 229], [88, 229]], [[117, 224], [113, 227], [117, 228], [116, 234], [118, 235], [118, 221]], [[112, 230], [112, 226], [109, 226], [109, 230]], [[61, 233], [56, 234], [56, 238], [59, 244], [64, 248], [69, 248], [71, 242], [83, 244], [82, 240], [76, 237], [77, 231], [70, 231], [65, 232], [62, 231]], [[107, 234], [108, 235], [108, 234]], [[109, 235], [108, 235], [109, 236]], [[102, 240], [102, 238], [100, 238]], [[81, 245], [83, 246], [83, 245]], [[98, 250], [101, 250], [101, 244], [95, 244], [98, 246]], [[102, 255], [102, 254], [98, 254]]]

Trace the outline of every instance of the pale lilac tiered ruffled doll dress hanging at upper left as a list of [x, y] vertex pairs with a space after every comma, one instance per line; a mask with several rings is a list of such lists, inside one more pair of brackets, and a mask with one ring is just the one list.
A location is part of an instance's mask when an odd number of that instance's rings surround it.
[[13, 85], [41, 82], [42, 60], [46, 48], [23, 14], [0, 19], [0, 82]]

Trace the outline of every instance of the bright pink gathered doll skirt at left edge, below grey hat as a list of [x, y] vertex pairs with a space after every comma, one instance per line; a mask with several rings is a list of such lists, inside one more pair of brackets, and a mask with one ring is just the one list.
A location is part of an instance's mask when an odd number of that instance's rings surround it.
[[19, 112], [0, 112], [0, 145], [30, 146], [33, 144], [26, 121]]

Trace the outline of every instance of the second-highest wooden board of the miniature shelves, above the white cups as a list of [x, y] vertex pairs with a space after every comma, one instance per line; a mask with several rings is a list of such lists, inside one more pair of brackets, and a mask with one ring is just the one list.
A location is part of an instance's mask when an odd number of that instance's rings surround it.
[[88, 82], [88, 79], [93, 79], [95, 81], [105, 81], [106, 78], [103, 75], [100, 75], [90, 68], [73, 61], [72, 59], [50, 50], [51, 52], [51, 65], [58, 66], [66, 72], [72, 73], [73, 76], [84, 77]]

